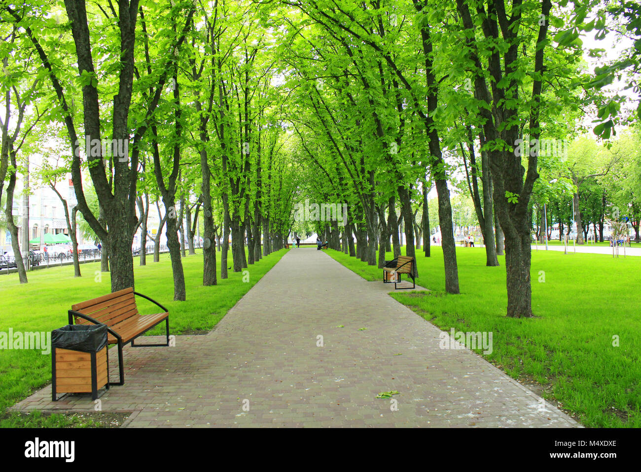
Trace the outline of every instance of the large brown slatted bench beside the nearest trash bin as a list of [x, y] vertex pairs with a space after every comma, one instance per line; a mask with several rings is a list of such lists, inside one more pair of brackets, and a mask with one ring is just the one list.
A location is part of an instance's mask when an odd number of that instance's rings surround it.
[[[143, 297], [158, 305], [163, 313], [140, 315], [134, 295]], [[134, 292], [133, 288], [125, 288], [118, 292], [109, 293], [92, 300], [76, 303], [69, 310], [69, 324], [106, 324], [108, 344], [118, 345], [118, 365], [120, 381], [110, 385], [124, 385], [124, 363], [122, 362], [122, 347], [131, 342], [133, 347], [168, 346], [169, 345], [169, 313], [167, 308], [142, 293]], [[167, 344], [134, 344], [140, 335], [165, 322], [167, 329]]]

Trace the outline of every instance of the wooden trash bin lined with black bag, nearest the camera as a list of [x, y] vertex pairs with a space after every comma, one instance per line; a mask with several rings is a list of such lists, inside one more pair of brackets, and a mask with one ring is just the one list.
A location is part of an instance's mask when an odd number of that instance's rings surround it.
[[[51, 398], [58, 400], [58, 393], [90, 393], [92, 399], [98, 398], [98, 390], [109, 389], [109, 354], [106, 344], [106, 326], [65, 326], [56, 329], [58, 335], [76, 335], [80, 342], [76, 349], [71, 347], [74, 339], [54, 342], [52, 333], [51, 350]], [[93, 333], [90, 331], [94, 331]], [[104, 331], [104, 333], [103, 333]], [[83, 336], [85, 338], [83, 338]], [[92, 338], [93, 336], [93, 338]], [[104, 338], [104, 339], [103, 339]], [[56, 345], [58, 344], [58, 345]]]

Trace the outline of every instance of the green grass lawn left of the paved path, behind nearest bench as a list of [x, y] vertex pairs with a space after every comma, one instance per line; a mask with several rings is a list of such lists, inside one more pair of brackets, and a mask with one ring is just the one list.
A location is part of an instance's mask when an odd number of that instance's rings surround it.
[[[250, 288], [260, 280], [287, 252], [281, 249], [250, 265], [248, 274], [229, 270], [229, 278], [221, 279], [220, 256], [217, 252], [218, 284], [203, 286], [203, 256], [183, 258], [187, 301], [176, 302], [169, 254], [161, 254], [154, 263], [147, 256], [147, 265], [140, 267], [134, 258], [136, 291], [160, 302], [169, 310], [171, 334], [206, 333], [219, 322]], [[231, 266], [231, 250], [228, 267]], [[0, 331], [51, 331], [67, 324], [71, 305], [111, 292], [110, 274], [96, 272], [99, 263], [80, 266], [82, 277], [74, 277], [71, 265], [28, 272], [28, 284], [21, 284], [17, 274], [0, 277]], [[243, 277], [248, 275], [249, 281]], [[158, 307], [141, 297], [137, 298], [140, 313], [158, 313]], [[164, 326], [149, 331], [149, 335], [164, 333]], [[0, 427], [7, 426], [68, 426], [69, 419], [55, 415], [59, 421], [44, 417], [24, 419], [21, 415], [4, 415], [6, 408], [28, 397], [51, 381], [51, 356], [33, 350], [0, 350]], [[72, 425], [76, 426], [76, 424]]]

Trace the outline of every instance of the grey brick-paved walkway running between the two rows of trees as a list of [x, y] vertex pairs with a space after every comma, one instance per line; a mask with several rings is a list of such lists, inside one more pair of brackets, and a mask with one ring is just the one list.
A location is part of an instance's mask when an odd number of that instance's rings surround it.
[[[440, 349], [440, 330], [388, 287], [290, 250], [208, 335], [126, 347], [125, 385], [101, 408], [143, 427], [578, 426], [472, 351]], [[396, 402], [375, 398], [390, 390]], [[49, 386], [14, 409], [94, 406], [88, 395], [54, 403]]]

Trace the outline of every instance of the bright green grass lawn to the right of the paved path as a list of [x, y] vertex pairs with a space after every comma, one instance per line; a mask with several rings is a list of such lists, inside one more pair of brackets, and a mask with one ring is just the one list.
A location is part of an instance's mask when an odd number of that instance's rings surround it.
[[[328, 254], [367, 280], [381, 280], [376, 266]], [[417, 259], [417, 283], [431, 292], [396, 292], [395, 299], [444, 331], [492, 331], [494, 351], [484, 357], [515, 379], [538, 383], [544, 398], [585, 426], [641, 427], [641, 258], [533, 250], [535, 318], [508, 319], [503, 256], [500, 267], [486, 267], [485, 249], [458, 248], [461, 293], [448, 295], [442, 250], [431, 254]]]

